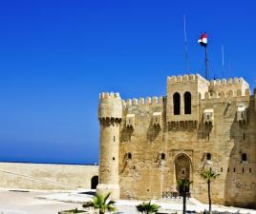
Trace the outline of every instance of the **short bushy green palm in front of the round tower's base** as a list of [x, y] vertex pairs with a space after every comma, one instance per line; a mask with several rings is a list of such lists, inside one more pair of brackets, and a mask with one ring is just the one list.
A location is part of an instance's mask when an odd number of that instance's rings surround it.
[[[114, 212], [116, 211], [115, 201], [108, 201], [108, 198], [111, 193], [106, 195], [96, 194], [96, 197], [93, 199], [91, 203], [84, 204], [83, 207], [93, 206], [94, 208], [99, 210], [99, 214], [104, 214], [106, 211]], [[108, 201], [108, 202], [107, 202]]]

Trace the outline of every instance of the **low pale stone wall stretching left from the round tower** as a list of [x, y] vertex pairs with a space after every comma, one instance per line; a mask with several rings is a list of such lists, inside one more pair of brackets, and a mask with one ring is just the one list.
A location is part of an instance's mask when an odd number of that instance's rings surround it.
[[97, 165], [0, 163], [0, 188], [42, 190], [91, 188], [92, 178], [97, 175]]

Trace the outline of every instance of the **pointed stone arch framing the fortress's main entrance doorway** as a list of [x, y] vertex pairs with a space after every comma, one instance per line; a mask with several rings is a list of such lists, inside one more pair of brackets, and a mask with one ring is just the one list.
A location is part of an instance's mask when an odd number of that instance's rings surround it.
[[[185, 152], [174, 156], [174, 186], [177, 186], [178, 179], [188, 179], [193, 181], [193, 165], [191, 158]], [[178, 189], [177, 189], [178, 190]]]

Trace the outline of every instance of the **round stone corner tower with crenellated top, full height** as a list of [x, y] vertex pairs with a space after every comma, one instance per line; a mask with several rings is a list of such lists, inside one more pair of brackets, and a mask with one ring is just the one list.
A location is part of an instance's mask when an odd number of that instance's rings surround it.
[[100, 93], [98, 120], [100, 124], [99, 184], [96, 192], [111, 192], [119, 198], [118, 153], [122, 101], [118, 93]]

